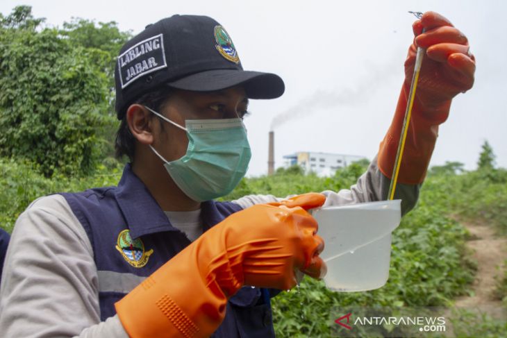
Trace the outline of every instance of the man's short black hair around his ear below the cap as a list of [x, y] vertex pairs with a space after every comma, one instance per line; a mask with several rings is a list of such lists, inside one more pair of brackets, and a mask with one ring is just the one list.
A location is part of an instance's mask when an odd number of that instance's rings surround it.
[[[158, 90], [142, 95], [134, 103], [146, 105], [156, 112], [160, 112], [164, 108], [165, 101], [169, 99], [171, 91], [172, 90], [169, 87], [162, 87]], [[128, 128], [126, 112], [122, 117], [122, 122], [116, 133], [115, 155], [119, 159], [122, 158], [123, 155], [126, 155], [130, 162], [134, 161], [135, 137], [132, 135], [130, 128]]]

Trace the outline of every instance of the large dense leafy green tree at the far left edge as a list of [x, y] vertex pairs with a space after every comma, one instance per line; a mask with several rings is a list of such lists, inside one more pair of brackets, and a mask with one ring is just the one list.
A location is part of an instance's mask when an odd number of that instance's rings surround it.
[[104, 55], [55, 29], [35, 31], [27, 8], [2, 18], [0, 155], [30, 160], [46, 176], [88, 174], [101, 151], [97, 130], [109, 118], [109, 81], [93, 62]]

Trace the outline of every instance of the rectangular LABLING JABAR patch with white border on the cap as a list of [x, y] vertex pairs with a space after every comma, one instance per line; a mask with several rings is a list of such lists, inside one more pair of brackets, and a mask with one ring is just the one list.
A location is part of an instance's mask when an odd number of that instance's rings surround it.
[[118, 56], [119, 81], [122, 89], [143, 75], [167, 67], [162, 34], [133, 45]]

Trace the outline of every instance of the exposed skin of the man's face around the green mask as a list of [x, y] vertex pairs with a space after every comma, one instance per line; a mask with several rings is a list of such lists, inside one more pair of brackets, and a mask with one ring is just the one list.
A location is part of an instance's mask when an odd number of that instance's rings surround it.
[[[241, 86], [236, 86], [217, 92], [176, 90], [165, 101], [163, 109], [159, 113], [184, 127], [187, 119], [242, 118], [247, 114], [247, 108], [248, 99], [244, 89]], [[154, 130], [152, 146], [167, 161], [178, 160], [187, 151], [188, 137], [186, 132], [162, 119], [160, 119], [160, 124]]]

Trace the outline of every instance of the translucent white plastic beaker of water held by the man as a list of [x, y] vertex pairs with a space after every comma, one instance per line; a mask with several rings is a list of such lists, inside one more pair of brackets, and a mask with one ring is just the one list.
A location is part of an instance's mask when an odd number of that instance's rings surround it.
[[401, 200], [312, 210], [325, 248], [326, 286], [333, 291], [378, 289], [388, 280], [391, 233], [401, 221]]

